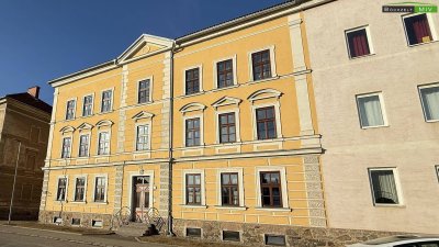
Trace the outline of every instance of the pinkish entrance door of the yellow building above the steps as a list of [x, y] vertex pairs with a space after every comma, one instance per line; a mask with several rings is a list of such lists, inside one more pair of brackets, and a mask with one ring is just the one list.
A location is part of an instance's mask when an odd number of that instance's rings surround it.
[[134, 200], [133, 200], [133, 210], [134, 213], [133, 220], [135, 222], [145, 222], [147, 218], [147, 213], [149, 210], [149, 176], [142, 176], [134, 178]]

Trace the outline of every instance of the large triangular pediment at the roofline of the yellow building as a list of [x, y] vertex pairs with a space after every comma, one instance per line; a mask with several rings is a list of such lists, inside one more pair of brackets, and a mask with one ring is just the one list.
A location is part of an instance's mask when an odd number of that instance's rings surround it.
[[132, 58], [140, 58], [150, 53], [170, 48], [172, 44], [172, 40], [143, 34], [123, 54], [121, 54], [121, 56], [117, 57], [117, 60], [124, 63]]

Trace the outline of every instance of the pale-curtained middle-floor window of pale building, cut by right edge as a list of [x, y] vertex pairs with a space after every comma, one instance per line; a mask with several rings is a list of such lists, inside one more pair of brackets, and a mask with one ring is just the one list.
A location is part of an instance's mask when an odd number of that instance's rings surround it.
[[439, 85], [419, 87], [426, 121], [439, 121]]

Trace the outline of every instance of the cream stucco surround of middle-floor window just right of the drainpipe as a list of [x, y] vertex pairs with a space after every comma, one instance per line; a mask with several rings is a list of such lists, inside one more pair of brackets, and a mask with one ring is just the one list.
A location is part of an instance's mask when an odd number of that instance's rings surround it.
[[[189, 103], [180, 109], [180, 112], [182, 113], [182, 146], [187, 148], [196, 148], [196, 147], [202, 147], [204, 146], [204, 110], [206, 106], [201, 103]], [[185, 142], [185, 122], [187, 120], [191, 119], [200, 119], [200, 145], [198, 146], [187, 146]]]

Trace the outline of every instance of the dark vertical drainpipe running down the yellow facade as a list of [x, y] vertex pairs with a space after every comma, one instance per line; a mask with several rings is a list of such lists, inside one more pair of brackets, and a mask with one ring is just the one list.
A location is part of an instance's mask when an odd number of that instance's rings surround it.
[[171, 57], [170, 57], [170, 94], [169, 94], [169, 207], [168, 207], [168, 236], [175, 236], [172, 229], [172, 166], [173, 166], [173, 49], [176, 47], [176, 42], [172, 43]]

